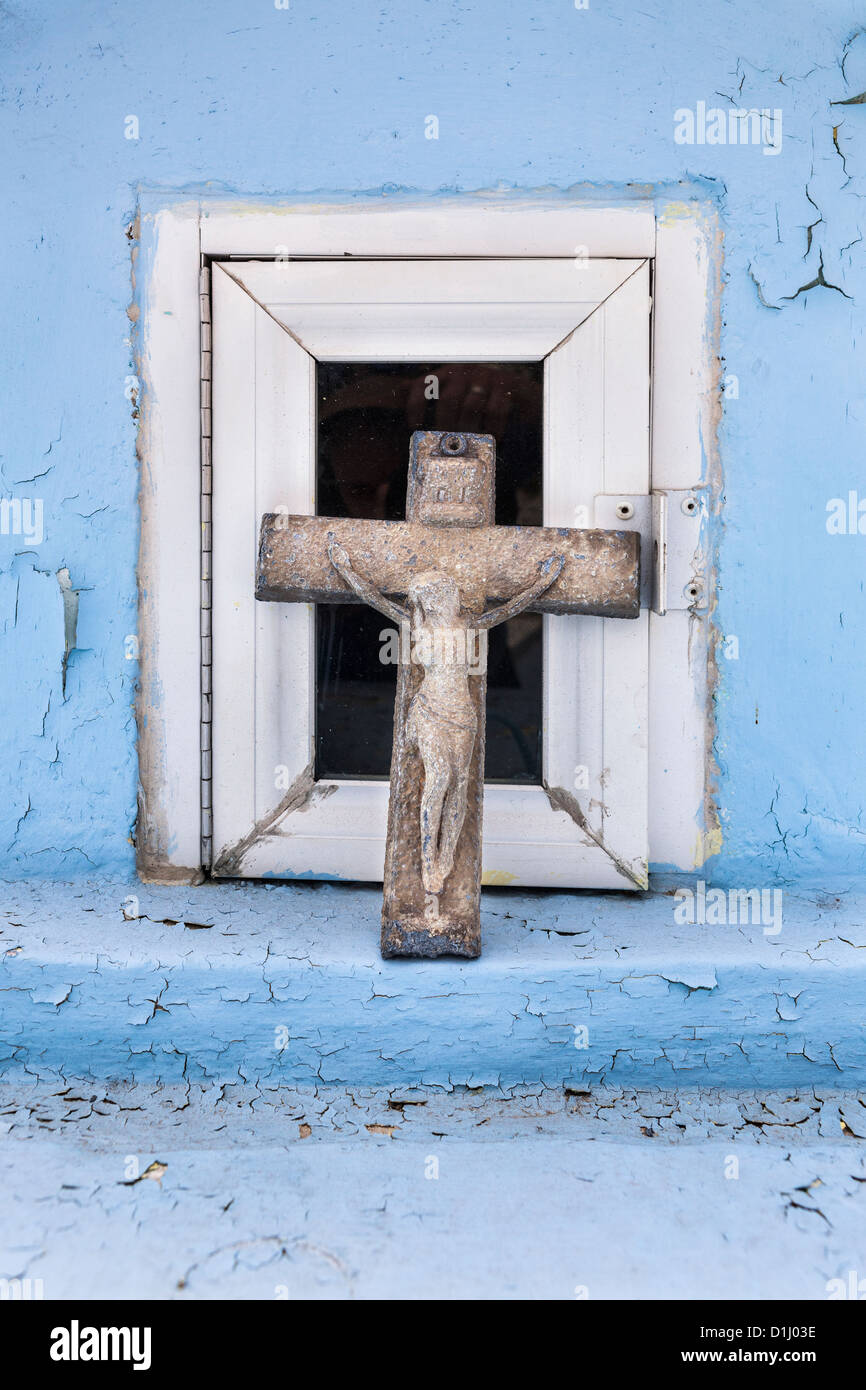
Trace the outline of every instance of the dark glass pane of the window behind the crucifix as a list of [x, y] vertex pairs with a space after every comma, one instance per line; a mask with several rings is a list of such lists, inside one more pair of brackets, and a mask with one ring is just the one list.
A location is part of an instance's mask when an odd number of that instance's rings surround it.
[[[542, 363], [318, 363], [317, 400], [320, 516], [402, 520], [413, 431], [457, 430], [496, 439], [498, 524], [542, 524]], [[317, 777], [389, 774], [391, 626], [368, 607], [317, 605]], [[541, 781], [541, 616], [493, 628], [487, 781]]]

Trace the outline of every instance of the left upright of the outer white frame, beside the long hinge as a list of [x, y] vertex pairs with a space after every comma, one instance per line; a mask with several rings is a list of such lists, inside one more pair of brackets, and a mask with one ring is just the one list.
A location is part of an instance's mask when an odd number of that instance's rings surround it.
[[139, 872], [202, 862], [200, 324], [195, 204], [142, 214]]

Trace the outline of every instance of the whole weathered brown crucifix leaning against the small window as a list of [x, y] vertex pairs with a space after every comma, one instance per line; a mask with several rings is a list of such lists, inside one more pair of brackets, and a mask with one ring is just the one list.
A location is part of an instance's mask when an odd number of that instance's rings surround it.
[[495, 525], [495, 463], [492, 435], [417, 431], [405, 521], [261, 520], [257, 599], [370, 603], [403, 638], [384, 956], [481, 954], [488, 630], [527, 610], [638, 616], [639, 535]]

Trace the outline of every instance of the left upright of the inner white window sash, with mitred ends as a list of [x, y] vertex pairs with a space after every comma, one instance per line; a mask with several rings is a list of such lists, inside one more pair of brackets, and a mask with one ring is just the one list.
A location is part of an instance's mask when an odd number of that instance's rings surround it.
[[313, 759], [313, 606], [257, 603], [253, 575], [261, 516], [316, 510], [316, 364], [217, 264], [211, 293], [217, 862]]

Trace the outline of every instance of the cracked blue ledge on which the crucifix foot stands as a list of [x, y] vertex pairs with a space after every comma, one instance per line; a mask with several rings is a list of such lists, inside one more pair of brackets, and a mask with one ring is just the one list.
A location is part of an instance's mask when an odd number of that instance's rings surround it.
[[785, 894], [776, 935], [677, 924], [666, 895], [482, 903], [481, 960], [414, 962], [379, 958], [375, 888], [7, 884], [0, 1068], [385, 1087], [866, 1080], [862, 895]]

